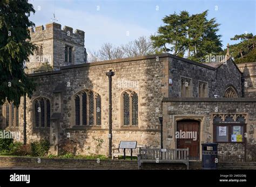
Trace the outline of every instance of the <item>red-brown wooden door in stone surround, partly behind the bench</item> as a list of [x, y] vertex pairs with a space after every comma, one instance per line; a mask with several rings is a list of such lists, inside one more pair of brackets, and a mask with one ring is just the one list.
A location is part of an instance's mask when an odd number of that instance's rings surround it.
[[177, 121], [177, 140], [178, 149], [189, 149], [190, 160], [200, 159], [200, 122], [192, 119]]

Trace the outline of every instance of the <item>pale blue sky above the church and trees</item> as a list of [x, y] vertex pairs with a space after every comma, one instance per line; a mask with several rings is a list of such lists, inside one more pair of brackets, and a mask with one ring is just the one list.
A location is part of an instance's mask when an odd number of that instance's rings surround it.
[[110, 42], [126, 44], [140, 36], [150, 37], [163, 25], [163, 17], [186, 10], [190, 14], [208, 10], [216, 18], [223, 48], [238, 41], [235, 34], [256, 34], [256, 0], [29, 0], [36, 10], [30, 20], [39, 25], [54, 22], [83, 30], [85, 47], [97, 51]]

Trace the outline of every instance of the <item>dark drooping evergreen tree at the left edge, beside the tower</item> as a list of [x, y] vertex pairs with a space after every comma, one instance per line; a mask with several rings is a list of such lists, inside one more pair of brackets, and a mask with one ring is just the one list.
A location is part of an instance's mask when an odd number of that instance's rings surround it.
[[31, 96], [35, 89], [24, 73], [24, 62], [35, 48], [29, 42], [31, 12], [35, 10], [28, 1], [0, 1], [0, 104], [7, 99], [19, 105], [21, 96]]

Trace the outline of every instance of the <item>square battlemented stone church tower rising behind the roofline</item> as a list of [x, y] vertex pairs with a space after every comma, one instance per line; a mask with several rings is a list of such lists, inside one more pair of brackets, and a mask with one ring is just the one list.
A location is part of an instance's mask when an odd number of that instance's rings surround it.
[[84, 31], [57, 23], [29, 28], [31, 42], [36, 46], [33, 55], [26, 62], [26, 73], [58, 70], [62, 66], [86, 63]]

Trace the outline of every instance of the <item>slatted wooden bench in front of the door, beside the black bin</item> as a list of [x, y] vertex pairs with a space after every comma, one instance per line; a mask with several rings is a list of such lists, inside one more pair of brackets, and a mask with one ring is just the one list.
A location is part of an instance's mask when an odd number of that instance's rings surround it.
[[138, 167], [142, 163], [184, 163], [189, 169], [188, 148], [186, 149], [139, 149]]

